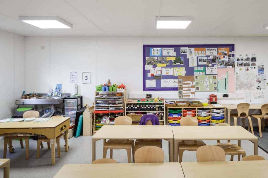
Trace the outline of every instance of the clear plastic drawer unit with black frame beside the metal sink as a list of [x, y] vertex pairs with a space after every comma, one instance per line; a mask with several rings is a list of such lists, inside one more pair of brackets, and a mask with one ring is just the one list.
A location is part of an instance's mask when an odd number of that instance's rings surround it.
[[70, 124], [75, 124], [76, 111], [83, 106], [83, 96], [64, 98], [64, 115], [70, 117]]

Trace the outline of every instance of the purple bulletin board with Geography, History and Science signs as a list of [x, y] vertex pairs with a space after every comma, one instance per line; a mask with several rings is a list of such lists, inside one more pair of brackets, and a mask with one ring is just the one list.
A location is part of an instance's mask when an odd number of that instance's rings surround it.
[[[143, 45], [143, 90], [178, 90], [178, 76], [215, 75], [206, 73], [206, 68], [234, 67], [234, 62], [229, 61], [234, 51], [234, 44]], [[221, 61], [219, 55], [224, 56], [226, 64], [217, 64]]]

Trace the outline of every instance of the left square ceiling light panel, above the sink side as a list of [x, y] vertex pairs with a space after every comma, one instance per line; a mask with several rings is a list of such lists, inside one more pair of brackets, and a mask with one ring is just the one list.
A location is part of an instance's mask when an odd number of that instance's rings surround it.
[[72, 24], [57, 16], [19, 16], [18, 19], [41, 29], [70, 29], [73, 27]]

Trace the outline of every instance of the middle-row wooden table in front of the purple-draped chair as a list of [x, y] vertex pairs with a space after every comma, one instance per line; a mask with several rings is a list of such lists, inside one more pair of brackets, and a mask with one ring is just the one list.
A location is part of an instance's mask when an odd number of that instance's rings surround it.
[[169, 162], [174, 161], [174, 140], [168, 125], [104, 125], [92, 136], [92, 161], [96, 159], [96, 141], [104, 139], [163, 139], [169, 141]]

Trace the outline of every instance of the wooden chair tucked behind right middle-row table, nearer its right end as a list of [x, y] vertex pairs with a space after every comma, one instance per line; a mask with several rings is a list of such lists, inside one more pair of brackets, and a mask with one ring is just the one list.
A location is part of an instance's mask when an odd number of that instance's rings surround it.
[[[230, 126], [227, 123], [219, 123], [217, 124], [217, 126]], [[232, 144], [230, 140], [227, 141], [228, 143], [221, 143], [220, 140], [217, 140], [217, 145], [221, 147], [222, 149], [224, 149], [225, 155], [231, 155], [231, 160], [233, 161], [234, 156], [238, 155], [238, 161], [240, 161], [240, 155], [242, 155], [242, 157], [246, 156], [246, 152], [243, 148], [239, 147], [236, 144]]]

